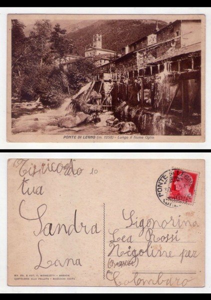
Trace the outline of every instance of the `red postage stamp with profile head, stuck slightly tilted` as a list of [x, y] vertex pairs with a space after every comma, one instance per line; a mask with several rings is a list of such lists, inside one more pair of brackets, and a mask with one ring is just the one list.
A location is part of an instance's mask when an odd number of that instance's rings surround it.
[[197, 173], [181, 169], [174, 169], [168, 198], [174, 201], [192, 203], [197, 176]]

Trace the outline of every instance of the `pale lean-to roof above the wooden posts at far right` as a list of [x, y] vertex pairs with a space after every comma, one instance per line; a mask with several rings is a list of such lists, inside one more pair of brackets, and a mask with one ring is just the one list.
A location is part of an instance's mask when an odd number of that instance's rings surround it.
[[194, 43], [192, 45], [184, 46], [181, 48], [176, 48], [176, 49], [174, 47], [170, 47], [164, 54], [153, 59], [152, 62], [157, 62], [157, 61], [164, 60], [164, 59], [167, 59], [170, 57], [179, 56], [182, 54], [187, 54], [187, 53], [196, 52], [196, 51], [200, 51], [200, 50], [201, 50], [200, 42]]

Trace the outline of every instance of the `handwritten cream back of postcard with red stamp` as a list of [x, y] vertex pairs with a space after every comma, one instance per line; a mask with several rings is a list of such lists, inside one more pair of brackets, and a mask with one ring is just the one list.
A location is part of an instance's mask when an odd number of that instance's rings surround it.
[[204, 286], [204, 160], [9, 159], [8, 285]]

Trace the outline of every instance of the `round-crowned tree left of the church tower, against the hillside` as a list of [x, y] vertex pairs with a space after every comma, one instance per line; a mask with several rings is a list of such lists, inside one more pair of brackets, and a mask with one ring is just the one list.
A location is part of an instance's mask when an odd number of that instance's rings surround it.
[[65, 54], [72, 52], [72, 40], [66, 38], [66, 30], [61, 29], [58, 23], [55, 24], [50, 34], [50, 42], [51, 50], [55, 58], [62, 58]]

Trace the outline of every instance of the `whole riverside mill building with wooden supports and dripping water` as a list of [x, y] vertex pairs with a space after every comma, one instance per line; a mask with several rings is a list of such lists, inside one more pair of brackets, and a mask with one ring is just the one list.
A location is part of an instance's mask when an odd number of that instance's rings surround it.
[[132, 120], [141, 133], [186, 134], [188, 126], [195, 126], [200, 134], [201, 20], [156, 28], [121, 54], [98, 66], [95, 76], [103, 84], [111, 82], [113, 106], [125, 103], [122, 109], [131, 109], [132, 115], [120, 119]]

